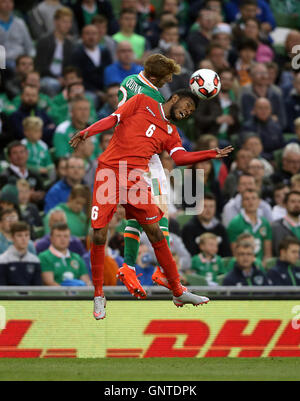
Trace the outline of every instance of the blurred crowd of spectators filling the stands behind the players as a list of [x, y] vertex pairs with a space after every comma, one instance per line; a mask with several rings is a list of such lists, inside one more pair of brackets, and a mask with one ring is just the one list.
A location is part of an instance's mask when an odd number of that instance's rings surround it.
[[[300, 285], [299, 26], [297, 0], [0, 0], [0, 286], [91, 285], [91, 194], [113, 131], [75, 151], [69, 140], [116, 110], [120, 83], [153, 53], [181, 66], [160, 89], [166, 99], [199, 68], [220, 75], [220, 94], [178, 123], [185, 148], [235, 148], [178, 169], [191, 169], [193, 188], [202, 169], [205, 190], [194, 216], [170, 197], [182, 281]], [[125, 227], [120, 206], [104, 285], [121, 285]], [[142, 285], [156, 263], [143, 235]]]

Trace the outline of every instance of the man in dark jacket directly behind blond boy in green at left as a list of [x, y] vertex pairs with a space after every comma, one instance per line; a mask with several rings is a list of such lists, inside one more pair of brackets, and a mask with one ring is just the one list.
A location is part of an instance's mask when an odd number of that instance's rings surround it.
[[23, 120], [26, 117], [36, 116], [43, 120], [43, 141], [47, 145], [52, 144], [52, 135], [55, 130], [55, 125], [48, 114], [38, 107], [39, 91], [38, 88], [32, 85], [26, 85], [21, 94], [21, 104], [17, 111], [11, 114], [10, 124], [14, 131], [15, 139], [24, 138]]

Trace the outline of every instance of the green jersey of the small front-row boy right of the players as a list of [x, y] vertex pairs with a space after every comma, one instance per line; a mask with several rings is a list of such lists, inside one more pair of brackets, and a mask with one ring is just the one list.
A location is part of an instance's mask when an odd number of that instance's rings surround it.
[[217, 281], [217, 276], [225, 273], [225, 268], [221, 256], [215, 255], [212, 259], [207, 259], [203, 253], [192, 257], [191, 269], [204, 277], [207, 282]]

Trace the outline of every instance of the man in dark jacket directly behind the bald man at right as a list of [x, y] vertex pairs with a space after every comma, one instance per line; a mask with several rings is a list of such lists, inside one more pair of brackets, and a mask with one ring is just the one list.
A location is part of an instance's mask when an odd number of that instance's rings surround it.
[[252, 83], [244, 86], [240, 93], [240, 107], [244, 121], [251, 117], [252, 110], [257, 98], [266, 97], [272, 105], [272, 117], [276, 119], [281, 127], [286, 126], [286, 113], [284, 103], [278, 88], [269, 85], [268, 70], [262, 63], [255, 63], [250, 69]]

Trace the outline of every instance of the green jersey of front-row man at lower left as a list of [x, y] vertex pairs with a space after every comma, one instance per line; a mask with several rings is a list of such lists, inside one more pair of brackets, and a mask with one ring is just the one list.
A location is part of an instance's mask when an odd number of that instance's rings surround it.
[[81, 276], [88, 274], [83, 259], [74, 252], [67, 251], [66, 255], [60, 253], [53, 246], [50, 246], [39, 255], [42, 272], [53, 272], [54, 280], [61, 284], [69, 279], [79, 280]]

